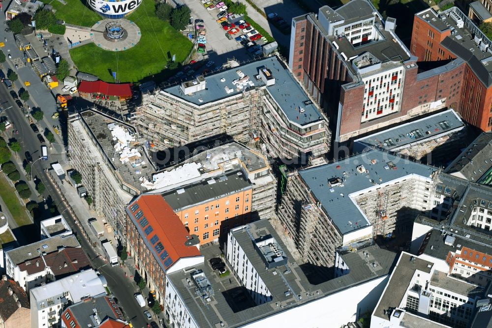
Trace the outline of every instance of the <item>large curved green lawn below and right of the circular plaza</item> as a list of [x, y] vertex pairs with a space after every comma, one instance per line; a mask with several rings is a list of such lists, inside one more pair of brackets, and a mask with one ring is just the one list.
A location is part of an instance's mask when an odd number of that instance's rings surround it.
[[80, 71], [106, 82], [114, 82], [110, 71], [116, 71], [121, 82], [138, 82], [159, 74], [173, 54], [182, 62], [193, 48], [183, 34], [155, 16], [154, 1], [143, 1], [127, 19], [140, 28], [138, 44], [119, 52], [103, 50], [93, 43], [74, 48], [70, 56]]

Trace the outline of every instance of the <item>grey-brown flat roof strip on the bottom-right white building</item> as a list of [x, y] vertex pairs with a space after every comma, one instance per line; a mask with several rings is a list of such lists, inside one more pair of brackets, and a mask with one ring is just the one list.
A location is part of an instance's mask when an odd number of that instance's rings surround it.
[[401, 253], [400, 260], [393, 270], [388, 285], [386, 285], [386, 290], [379, 299], [377, 308], [374, 310], [374, 315], [388, 320], [389, 314], [385, 314], [384, 311], [390, 307], [395, 308], [400, 306], [400, 302], [409, 288], [410, 280], [415, 271], [420, 270], [430, 273], [433, 265], [432, 262], [416, 258], [408, 253]]

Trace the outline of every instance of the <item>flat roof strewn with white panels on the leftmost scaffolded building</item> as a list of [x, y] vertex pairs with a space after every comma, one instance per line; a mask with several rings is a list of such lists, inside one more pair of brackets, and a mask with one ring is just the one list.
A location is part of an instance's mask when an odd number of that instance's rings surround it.
[[154, 168], [148, 163], [143, 151], [139, 150], [138, 141], [132, 138], [135, 134], [133, 128], [92, 110], [82, 112], [81, 116], [108, 163], [118, 171], [123, 181], [140, 192], [145, 191], [141, 182], [143, 178], [152, 181]]

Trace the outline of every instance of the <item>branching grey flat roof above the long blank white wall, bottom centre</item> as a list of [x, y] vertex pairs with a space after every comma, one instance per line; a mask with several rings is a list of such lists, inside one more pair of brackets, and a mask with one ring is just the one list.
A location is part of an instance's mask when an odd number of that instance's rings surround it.
[[[375, 273], [372, 272], [369, 269], [366, 260], [356, 254], [355, 257], [349, 256], [347, 258], [347, 265], [350, 266], [350, 272], [348, 274], [318, 285], [311, 285], [299, 265], [293, 261], [287, 247], [283, 244], [281, 238], [269, 224], [268, 220], [256, 221], [254, 224], [250, 224], [250, 226], [252, 228], [250, 232], [252, 232], [253, 237], [259, 237], [261, 234], [271, 234], [276, 238], [289, 259], [288, 268], [291, 272], [284, 275], [286, 281], [294, 288], [296, 293], [301, 290], [305, 291], [302, 295], [303, 299], [297, 300], [292, 293], [289, 296], [284, 294], [287, 291], [287, 287], [283, 280], [281, 280], [280, 275], [278, 273], [277, 275], [266, 274], [273, 272], [275, 269], [265, 270], [265, 265], [261, 264], [263, 262], [256, 251], [252, 249], [253, 246], [250, 237], [246, 232], [241, 232], [241, 234], [235, 235], [239, 237], [241, 241], [246, 242], [246, 244], [241, 242], [241, 245], [247, 247], [248, 259], [254, 261], [253, 265], [255, 268], [259, 269], [259, 274], [270, 289], [273, 299], [270, 302], [234, 312], [223, 293], [228, 293], [229, 291], [232, 292], [237, 286], [231, 285], [227, 279], [226, 281], [221, 281], [217, 273], [212, 270], [208, 263], [209, 259], [220, 254], [220, 250], [216, 245], [202, 248], [201, 252], [205, 257], [205, 263], [194, 266], [194, 268], [203, 270], [210, 281], [212, 288], [214, 289], [214, 295], [211, 297], [211, 302], [204, 302], [201, 297], [196, 295], [195, 286], [187, 283], [186, 278], [191, 280], [191, 272], [185, 273], [184, 270], [179, 270], [167, 275], [167, 279], [171, 281], [179, 294], [183, 297], [186, 307], [190, 310], [190, 313], [192, 313], [193, 318], [196, 320], [199, 327], [216, 328], [219, 327], [217, 324], [219, 324], [220, 321], [229, 328], [241, 327], [246, 323], [260, 320], [261, 318], [306, 304], [307, 302], [316, 301], [317, 299], [337, 293], [348, 287], [358, 285], [361, 282], [389, 274], [397, 256], [396, 253], [381, 249], [376, 245], [360, 249], [360, 252], [363, 250], [369, 251], [371, 255], [373, 255], [375, 261], [380, 263], [381, 270], [377, 270]], [[256, 228], [258, 228], [258, 230], [256, 230]], [[247, 243], [249, 243], [249, 245]], [[306, 295], [307, 292], [311, 295]], [[279, 305], [280, 303], [283, 304], [283, 307], [280, 308], [277, 306], [277, 303], [279, 303]]]

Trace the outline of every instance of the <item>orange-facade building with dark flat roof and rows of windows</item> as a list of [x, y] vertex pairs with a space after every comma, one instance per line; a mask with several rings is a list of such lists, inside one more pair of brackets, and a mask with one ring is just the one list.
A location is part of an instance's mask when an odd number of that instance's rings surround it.
[[200, 244], [251, 220], [252, 185], [241, 171], [204, 179], [162, 194]]

